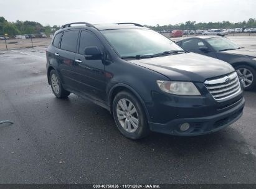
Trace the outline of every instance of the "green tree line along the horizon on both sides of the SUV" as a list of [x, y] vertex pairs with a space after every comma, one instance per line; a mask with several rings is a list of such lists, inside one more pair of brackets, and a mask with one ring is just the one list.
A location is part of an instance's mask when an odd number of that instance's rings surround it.
[[[196, 21], [187, 21], [185, 23], [179, 24], [168, 24], [168, 25], [145, 25], [156, 31], [163, 31], [163, 30], [173, 30], [173, 29], [181, 29], [181, 30], [202, 30], [202, 29], [233, 29], [233, 28], [256, 28], [256, 19], [250, 18], [248, 21], [242, 22], [229, 22], [229, 21], [222, 21], [222, 22], [199, 22]], [[19, 21], [16, 22], [8, 22], [4, 17], [0, 16], [0, 35], [8, 34], [11, 35], [18, 35], [18, 34], [38, 34], [39, 32], [44, 32], [45, 34], [52, 34], [53, 31], [51, 30], [54, 28], [58, 30], [60, 26], [50, 25], [43, 26], [39, 22], [33, 21]]]

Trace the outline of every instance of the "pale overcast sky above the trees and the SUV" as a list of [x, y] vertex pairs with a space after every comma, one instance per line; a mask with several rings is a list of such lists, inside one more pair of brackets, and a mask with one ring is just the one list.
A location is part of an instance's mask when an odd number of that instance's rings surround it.
[[7, 21], [62, 25], [137, 22], [147, 25], [186, 21], [247, 21], [256, 18], [256, 0], [0, 0]]

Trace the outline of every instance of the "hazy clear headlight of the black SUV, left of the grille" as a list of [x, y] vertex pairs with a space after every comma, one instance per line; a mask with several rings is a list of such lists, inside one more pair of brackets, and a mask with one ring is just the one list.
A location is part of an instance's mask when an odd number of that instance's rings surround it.
[[191, 96], [201, 95], [194, 83], [191, 82], [163, 80], [157, 80], [156, 82], [158, 83], [159, 88], [166, 93]]

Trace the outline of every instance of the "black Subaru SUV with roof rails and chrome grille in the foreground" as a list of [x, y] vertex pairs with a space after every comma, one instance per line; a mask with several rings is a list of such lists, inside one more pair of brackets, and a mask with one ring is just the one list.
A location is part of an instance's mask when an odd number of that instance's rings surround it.
[[46, 57], [57, 98], [75, 93], [107, 108], [130, 139], [149, 131], [207, 134], [242, 116], [245, 101], [234, 68], [185, 52], [140, 24], [65, 24]]

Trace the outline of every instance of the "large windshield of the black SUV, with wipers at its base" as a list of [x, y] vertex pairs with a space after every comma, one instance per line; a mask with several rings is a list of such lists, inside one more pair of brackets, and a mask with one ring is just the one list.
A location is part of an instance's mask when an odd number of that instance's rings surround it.
[[183, 51], [171, 40], [149, 29], [118, 29], [101, 32], [121, 57]]

